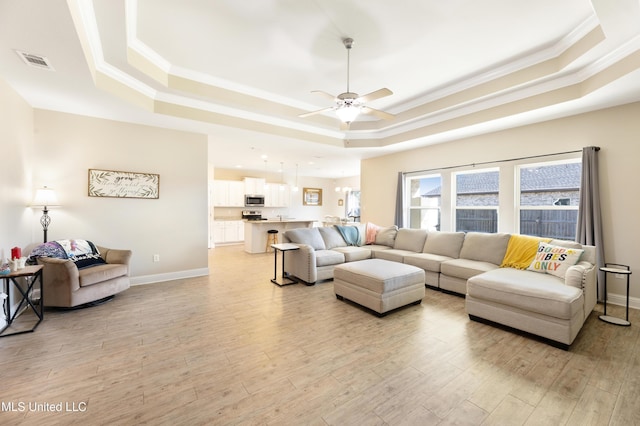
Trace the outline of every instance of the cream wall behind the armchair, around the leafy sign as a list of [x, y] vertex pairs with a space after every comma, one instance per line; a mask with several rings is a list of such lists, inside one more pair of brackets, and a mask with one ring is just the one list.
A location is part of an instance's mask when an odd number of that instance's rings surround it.
[[[33, 184], [54, 188], [62, 205], [50, 211], [49, 240], [133, 250], [134, 284], [208, 273], [206, 135], [45, 110], [34, 116]], [[157, 173], [160, 198], [89, 197], [92, 168]]]

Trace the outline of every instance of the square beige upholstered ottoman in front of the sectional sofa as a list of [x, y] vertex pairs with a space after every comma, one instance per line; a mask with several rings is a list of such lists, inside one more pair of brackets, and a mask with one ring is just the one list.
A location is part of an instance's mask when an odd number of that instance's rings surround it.
[[404, 263], [367, 259], [343, 263], [333, 272], [333, 289], [340, 300], [348, 299], [383, 316], [424, 298], [424, 270]]

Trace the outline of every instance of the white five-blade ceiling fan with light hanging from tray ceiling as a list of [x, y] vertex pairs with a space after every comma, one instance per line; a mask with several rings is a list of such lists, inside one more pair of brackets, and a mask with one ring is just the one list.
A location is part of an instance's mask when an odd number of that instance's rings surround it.
[[339, 94], [338, 96], [333, 96], [327, 92], [323, 92], [321, 90], [314, 90], [311, 93], [317, 93], [326, 98], [331, 99], [336, 103], [335, 106], [323, 108], [318, 111], [307, 112], [305, 114], [300, 114], [299, 117], [305, 118], [315, 114], [321, 114], [327, 111], [335, 111], [336, 115], [346, 125], [348, 128], [352, 121], [354, 121], [358, 115], [368, 114], [374, 115], [383, 120], [389, 120], [394, 118], [393, 114], [389, 114], [388, 112], [380, 111], [377, 109], [370, 108], [365, 104], [376, 99], [383, 98], [385, 96], [393, 95], [393, 92], [386, 87], [383, 89], [378, 89], [375, 92], [368, 93], [364, 96], [359, 96], [357, 93], [353, 93], [349, 91], [349, 65], [350, 65], [350, 56], [349, 52], [353, 47], [353, 39], [352, 38], [343, 38], [342, 43], [344, 47], [347, 48], [347, 91]]

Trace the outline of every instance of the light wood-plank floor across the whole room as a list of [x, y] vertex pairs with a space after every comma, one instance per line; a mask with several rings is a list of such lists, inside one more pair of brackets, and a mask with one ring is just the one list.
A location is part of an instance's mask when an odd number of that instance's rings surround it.
[[271, 284], [271, 254], [210, 269], [0, 339], [0, 424], [640, 424], [638, 311], [598, 306], [563, 351], [429, 289], [378, 318], [331, 282]]

